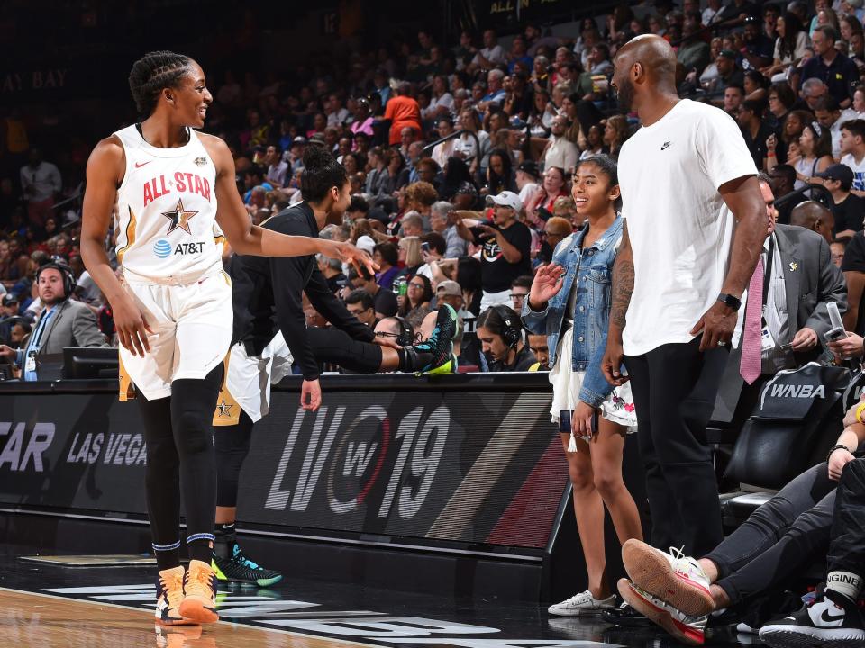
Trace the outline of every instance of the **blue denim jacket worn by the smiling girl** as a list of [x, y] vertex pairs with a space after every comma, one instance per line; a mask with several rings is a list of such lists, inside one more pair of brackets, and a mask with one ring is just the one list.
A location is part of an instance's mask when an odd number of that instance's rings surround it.
[[[565, 311], [574, 281], [578, 282], [574, 308], [574, 347], [571, 365], [574, 371], [586, 372], [579, 400], [592, 407], [601, 403], [613, 391], [601, 373], [601, 360], [606, 348], [606, 329], [610, 320], [610, 284], [617, 244], [622, 238], [624, 220], [619, 214], [594, 245], [580, 249], [588, 225], [556, 246], [552, 263], [564, 268], [564, 283], [544, 311], [533, 311], [529, 300], [523, 304], [523, 323], [536, 335], [546, 334], [550, 347], [550, 366], [556, 362], [559, 339], [564, 333]], [[562, 349], [567, 353], [567, 349]]]

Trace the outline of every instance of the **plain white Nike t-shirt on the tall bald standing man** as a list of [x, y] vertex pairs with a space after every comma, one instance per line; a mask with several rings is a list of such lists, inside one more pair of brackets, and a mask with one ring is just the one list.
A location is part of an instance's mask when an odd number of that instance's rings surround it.
[[705, 103], [683, 99], [624, 143], [619, 184], [634, 266], [626, 355], [693, 339], [733, 244], [733, 212], [718, 187], [746, 175], [757, 167], [739, 126]]

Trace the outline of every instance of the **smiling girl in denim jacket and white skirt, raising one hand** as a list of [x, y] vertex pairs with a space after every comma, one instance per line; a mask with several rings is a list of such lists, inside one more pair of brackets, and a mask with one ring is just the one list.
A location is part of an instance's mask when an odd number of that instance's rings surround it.
[[572, 194], [587, 224], [538, 269], [523, 308], [526, 328], [549, 341], [551, 416], [560, 424], [588, 573], [588, 590], [551, 606], [551, 614], [563, 616], [614, 606], [605, 580], [604, 506], [619, 542], [642, 539], [640, 516], [622, 479], [624, 437], [636, 427], [631, 390], [628, 383], [614, 388], [601, 374], [610, 283], [622, 241], [615, 162], [606, 156], [580, 161]]

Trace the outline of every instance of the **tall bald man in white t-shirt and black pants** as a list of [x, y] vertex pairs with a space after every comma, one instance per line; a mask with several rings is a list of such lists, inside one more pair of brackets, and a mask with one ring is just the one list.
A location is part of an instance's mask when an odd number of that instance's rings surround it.
[[619, 154], [625, 226], [602, 367], [611, 383], [631, 379], [651, 545], [702, 555], [723, 538], [706, 424], [768, 221], [736, 122], [680, 100], [675, 72], [676, 54], [656, 36], [615, 59], [619, 107], [642, 128]]

